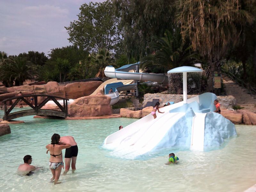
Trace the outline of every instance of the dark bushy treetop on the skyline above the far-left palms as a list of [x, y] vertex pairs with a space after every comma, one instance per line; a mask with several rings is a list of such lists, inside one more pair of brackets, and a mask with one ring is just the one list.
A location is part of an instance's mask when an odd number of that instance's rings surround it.
[[44, 55], [44, 52], [34, 52], [34, 51], [29, 51], [28, 53], [20, 53], [18, 55], [20, 58], [24, 58], [25, 60], [35, 64], [35, 65], [40, 65], [43, 66], [48, 58]]

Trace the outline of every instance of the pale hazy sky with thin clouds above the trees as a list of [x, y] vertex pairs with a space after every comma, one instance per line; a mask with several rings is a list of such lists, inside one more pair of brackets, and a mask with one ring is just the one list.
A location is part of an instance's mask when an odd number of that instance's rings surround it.
[[104, 0], [0, 0], [0, 51], [7, 55], [71, 45], [64, 27], [84, 3]]

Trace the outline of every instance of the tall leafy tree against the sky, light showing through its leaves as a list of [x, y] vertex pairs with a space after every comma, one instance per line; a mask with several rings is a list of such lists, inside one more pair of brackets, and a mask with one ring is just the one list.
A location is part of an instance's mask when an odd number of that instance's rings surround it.
[[107, 0], [102, 3], [83, 4], [78, 20], [70, 22], [69, 42], [87, 52], [96, 52], [101, 47], [114, 50], [120, 40], [119, 19], [114, 15], [114, 6]]

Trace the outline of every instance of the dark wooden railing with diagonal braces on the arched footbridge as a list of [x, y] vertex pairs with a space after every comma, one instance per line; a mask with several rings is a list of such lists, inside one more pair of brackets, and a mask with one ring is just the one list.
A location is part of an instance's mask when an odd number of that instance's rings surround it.
[[[33, 97], [34, 101], [35, 101], [35, 104], [33, 105], [30, 102], [28, 102], [28, 100], [25, 99], [27, 97]], [[38, 97], [45, 97], [45, 99], [39, 104], [38, 103]], [[63, 106], [56, 99], [63, 100]], [[7, 110], [6, 102], [10, 101], [10, 100], [15, 100], [15, 101], [11, 105], [11, 107]], [[11, 113], [12, 109], [19, 103], [20, 100], [24, 101], [29, 107], [31, 107], [35, 111], [35, 113], [38, 113], [39, 110], [49, 100], [52, 100], [60, 108], [61, 112], [65, 113], [66, 116], [68, 116], [68, 99], [62, 98], [62, 97], [57, 97], [57, 96], [52, 96], [52, 95], [45, 95], [45, 94], [38, 94], [38, 95], [31, 94], [31, 95], [21, 95], [21, 96], [12, 97], [12, 98], [3, 100], [2, 101], [2, 102], [4, 102], [4, 116], [3, 116], [3, 120], [8, 120], [8, 116], [13, 114], [13, 113]], [[51, 110], [51, 111], [57, 111], [57, 110]]]

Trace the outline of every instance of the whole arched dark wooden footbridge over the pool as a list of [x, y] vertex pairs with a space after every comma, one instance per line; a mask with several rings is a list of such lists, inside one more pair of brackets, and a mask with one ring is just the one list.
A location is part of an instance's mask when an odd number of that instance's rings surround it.
[[[29, 101], [27, 101], [25, 99], [27, 97], [29, 97], [29, 100], [30, 100], [30, 97], [34, 98], [35, 104], [32, 105]], [[40, 104], [38, 104], [37, 97], [45, 97], [45, 99]], [[63, 100], [63, 106], [56, 100], [56, 98]], [[6, 101], [10, 101], [10, 100], [15, 100], [15, 102], [7, 110]], [[20, 100], [24, 101], [32, 109], [11, 113], [12, 109], [19, 103]], [[52, 110], [52, 109], [41, 109], [49, 100], [54, 101], [54, 103], [56, 103], [56, 105], [60, 108], [60, 111]], [[57, 116], [57, 117], [64, 117], [64, 118], [68, 116], [68, 99], [62, 98], [62, 97], [56, 97], [56, 96], [44, 95], [44, 94], [42, 95], [33, 94], [33, 95], [22, 95], [22, 96], [12, 97], [9, 99], [5, 99], [2, 102], [4, 102], [4, 116], [3, 116], [4, 121], [9, 121], [18, 117], [30, 116], [30, 115]]]

